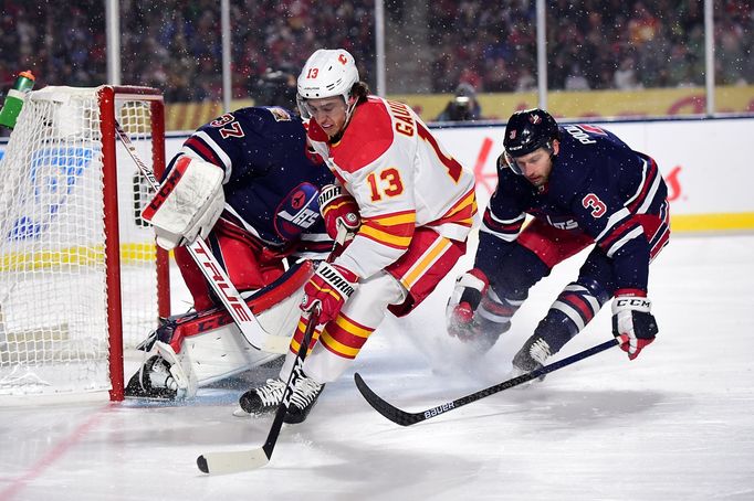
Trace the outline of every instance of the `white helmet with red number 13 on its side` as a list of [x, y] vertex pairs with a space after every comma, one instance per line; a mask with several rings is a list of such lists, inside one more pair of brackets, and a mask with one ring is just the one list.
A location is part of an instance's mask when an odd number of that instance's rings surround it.
[[344, 49], [320, 49], [312, 54], [299, 75], [299, 111], [304, 118], [312, 116], [306, 99], [343, 96], [349, 118], [355, 103], [350, 103], [350, 89], [358, 82], [354, 56]]

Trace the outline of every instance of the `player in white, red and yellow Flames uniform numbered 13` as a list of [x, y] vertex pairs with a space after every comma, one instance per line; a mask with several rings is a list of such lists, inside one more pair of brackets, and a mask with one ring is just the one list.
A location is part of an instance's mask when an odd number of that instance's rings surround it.
[[[477, 215], [473, 173], [407, 105], [370, 96], [347, 51], [316, 51], [297, 87], [300, 111], [311, 117], [310, 145], [339, 182], [321, 198], [328, 233], [338, 224], [357, 230], [304, 286], [302, 309], [317, 309], [324, 327], [299, 374], [286, 423], [306, 418], [388, 310], [402, 317], [436, 288], [465, 253]], [[347, 221], [355, 214], [360, 225]], [[307, 320], [304, 315], [281, 377], [243, 394], [243, 411], [277, 407]]]

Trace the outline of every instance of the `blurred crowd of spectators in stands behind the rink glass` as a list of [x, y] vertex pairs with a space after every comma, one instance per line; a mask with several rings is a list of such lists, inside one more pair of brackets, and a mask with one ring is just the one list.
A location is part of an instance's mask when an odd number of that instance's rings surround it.
[[[164, 89], [166, 100], [221, 99], [220, 2], [122, 0], [123, 82]], [[45, 84], [105, 83], [105, 2], [6, 0], [0, 18], [0, 83], [31, 68]], [[754, 8], [715, 0], [719, 85], [754, 83]], [[400, 22], [402, 0], [386, 0], [387, 22]], [[427, 10], [431, 85], [452, 93], [536, 88], [533, 0], [436, 0]], [[254, 96], [268, 70], [296, 73], [322, 46], [345, 47], [374, 88], [374, 0], [231, 0], [233, 97]], [[391, 43], [388, 41], [388, 43]], [[702, 1], [556, 0], [547, 2], [549, 89], [703, 85]], [[399, 64], [399, 62], [388, 62]], [[388, 86], [389, 87], [389, 86]], [[389, 88], [388, 88], [389, 92]]]

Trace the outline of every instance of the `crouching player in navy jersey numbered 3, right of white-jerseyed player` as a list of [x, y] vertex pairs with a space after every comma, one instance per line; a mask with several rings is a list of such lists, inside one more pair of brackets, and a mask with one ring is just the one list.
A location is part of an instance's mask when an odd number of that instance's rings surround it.
[[449, 332], [490, 349], [530, 288], [594, 244], [578, 278], [514, 356], [514, 372], [541, 367], [611, 298], [612, 333], [636, 359], [658, 332], [649, 263], [670, 237], [667, 188], [654, 160], [600, 127], [558, 126], [542, 109], [515, 113], [503, 145], [474, 267], [458, 278], [448, 302]]

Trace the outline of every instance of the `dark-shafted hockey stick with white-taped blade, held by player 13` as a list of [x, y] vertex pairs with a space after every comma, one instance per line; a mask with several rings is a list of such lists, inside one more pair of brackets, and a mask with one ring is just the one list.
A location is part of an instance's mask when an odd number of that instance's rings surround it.
[[320, 311], [315, 309], [308, 318], [308, 324], [304, 331], [304, 339], [301, 342], [301, 347], [299, 347], [296, 360], [293, 362], [293, 371], [291, 371], [291, 375], [287, 379], [283, 399], [277, 406], [275, 418], [272, 422], [272, 427], [270, 428], [264, 445], [251, 450], [208, 452], [201, 455], [197, 458], [197, 466], [202, 472], [211, 475], [235, 473], [239, 471], [255, 470], [270, 462], [272, 451], [274, 450], [277, 437], [280, 436], [280, 430], [283, 427], [285, 413], [287, 413], [289, 405], [291, 405], [291, 397], [293, 396], [293, 392], [295, 392], [300, 370], [304, 364], [306, 351], [312, 342], [312, 335], [314, 334], [314, 329], [318, 321]]

